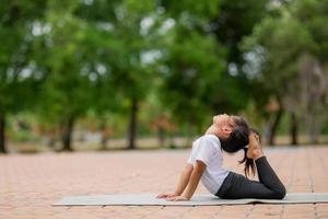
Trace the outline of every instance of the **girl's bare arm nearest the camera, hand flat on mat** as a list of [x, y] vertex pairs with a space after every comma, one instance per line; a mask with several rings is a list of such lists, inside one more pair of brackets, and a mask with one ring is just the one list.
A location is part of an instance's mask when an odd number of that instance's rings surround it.
[[172, 197], [172, 198], [169, 198], [169, 200], [186, 200], [186, 199], [189, 200], [192, 197], [192, 195], [198, 186], [199, 180], [200, 180], [206, 166], [207, 165], [202, 161], [196, 161], [196, 165], [191, 172], [189, 183], [188, 183], [187, 189], [185, 191], [184, 195]]

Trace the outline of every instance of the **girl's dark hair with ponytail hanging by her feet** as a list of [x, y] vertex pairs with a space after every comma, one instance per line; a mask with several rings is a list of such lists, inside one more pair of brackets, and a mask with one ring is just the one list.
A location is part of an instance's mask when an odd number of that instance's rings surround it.
[[253, 128], [249, 128], [247, 125], [247, 122], [245, 118], [239, 116], [233, 116], [234, 125], [233, 130], [230, 134], [230, 136], [226, 139], [220, 139], [221, 147], [224, 151], [229, 153], [237, 152], [238, 150], [244, 149], [244, 158], [239, 161], [239, 163], [245, 163], [245, 175], [246, 177], [249, 175], [249, 172], [251, 172], [253, 175], [255, 175], [256, 166], [255, 161], [253, 159], [247, 158], [247, 148], [246, 146], [249, 143], [248, 136], [251, 131], [256, 132]]

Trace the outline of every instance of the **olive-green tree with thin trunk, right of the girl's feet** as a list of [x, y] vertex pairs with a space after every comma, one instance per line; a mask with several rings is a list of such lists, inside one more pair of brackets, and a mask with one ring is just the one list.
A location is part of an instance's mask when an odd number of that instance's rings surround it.
[[[324, 34], [327, 28], [323, 23], [327, 19], [325, 5], [327, 3], [316, 0], [292, 1], [280, 9], [279, 15], [269, 16], [258, 24], [251, 36], [244, 42], [244, 45], [250, 48], [248, 53], [254, 57], [249, 62], [258, 67], [257, 70], [253, 68], [253, 74], [260, 72], [259, 78], [266, 84], [266, 89], [290, 112], [292, 145], [297, 143], [300, 118], [309, 113], [301, 111], [301, 105], [304, 103], [317, 105], [313, 103], [317, 100], [315, 96], [305, 100], [301, 99], [300, 94], [311, 92], [304, 90], [305, 87], [302, 85], [303, 64], [308, 60], [304, 57], [325, 59], [326, 51], [318, 49], [325, 47], [324, 42], [327, 41], [327, 35], [325, 37]], [[320, 66], [317, 64], [313, 62], [311, 69], [307, 68], [306, 71], [314, 76], [315, 68]], [[324, 73], [320, 74], [324, 79]], [[270, 83], [266, 83], [268, 81]], [[323, 96], [325, 89], [324, 92], [320, 89], [320, 92], [312, 93], [319, 93], [319, 96]]]

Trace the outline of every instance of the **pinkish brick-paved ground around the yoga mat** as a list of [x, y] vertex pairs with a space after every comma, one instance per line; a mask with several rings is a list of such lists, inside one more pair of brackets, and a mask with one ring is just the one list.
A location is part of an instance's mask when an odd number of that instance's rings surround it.
[[[0, 219], [328, 218], [328, 204], [52, 207], [60, 197], [172, 192], [188, 150], [0, 155]], [[328, 192], [328, 147], [265, 149], [289, 192]], [[225, 166], [242, 172], [242, 153]], [[201, 185], [197, 193], [206, 193]]]

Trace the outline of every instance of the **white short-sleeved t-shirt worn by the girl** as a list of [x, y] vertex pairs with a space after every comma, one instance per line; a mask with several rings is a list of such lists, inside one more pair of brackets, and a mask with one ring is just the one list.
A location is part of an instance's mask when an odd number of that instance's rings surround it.
[[221, 143], [215, 135], [204, 135], [192, 142], [188, 163], [195, 166], [197, 160], [207, 165], [200, 178], [201, 183], [211, 194], [215, 195], [229, 174], [229, 171], [222, 168]]

